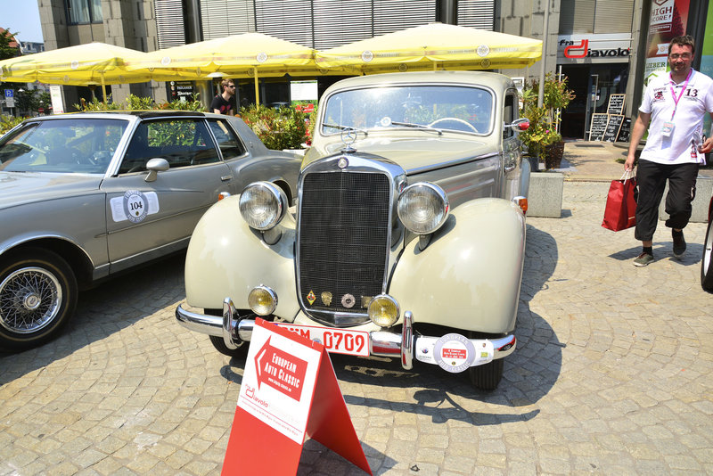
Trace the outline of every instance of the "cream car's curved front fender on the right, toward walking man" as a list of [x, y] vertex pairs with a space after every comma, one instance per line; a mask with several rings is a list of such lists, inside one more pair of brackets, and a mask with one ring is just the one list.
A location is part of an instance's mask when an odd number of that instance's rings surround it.
[[414, 323], [477, 332], [515, 326], [525, 250], [525, 217], [512, 202], [478, 199], [453, 210], [421, 251], [406, 246], [389, 294]]

